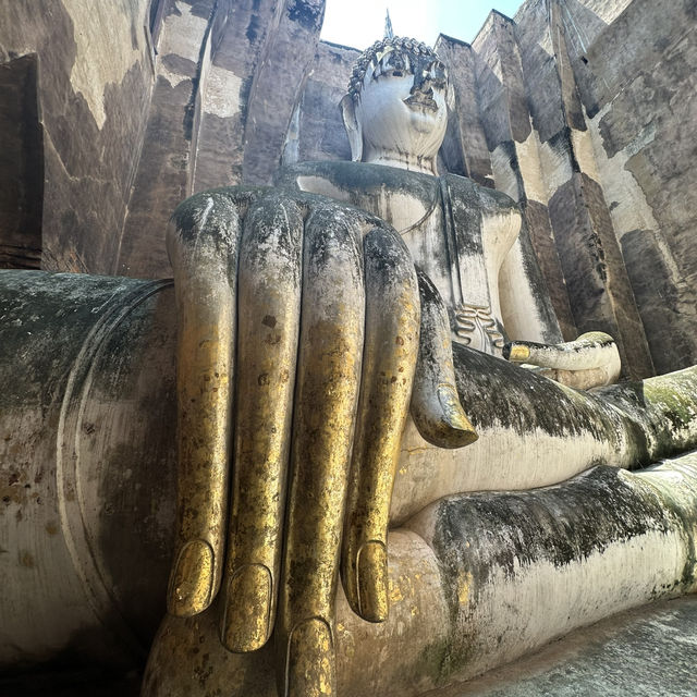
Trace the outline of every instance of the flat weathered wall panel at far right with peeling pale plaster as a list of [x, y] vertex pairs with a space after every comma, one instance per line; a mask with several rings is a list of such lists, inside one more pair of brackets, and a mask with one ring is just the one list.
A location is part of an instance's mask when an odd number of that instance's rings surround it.
[[576, 4], [588, 29], [567, 27], [567, 44], [598, 182], [657, 370], [682, 368], [697, 360], [697, 4]]

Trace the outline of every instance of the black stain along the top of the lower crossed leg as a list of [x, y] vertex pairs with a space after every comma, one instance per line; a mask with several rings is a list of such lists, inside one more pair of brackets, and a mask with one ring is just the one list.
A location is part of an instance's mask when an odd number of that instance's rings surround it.
[[[651, 486], [600, 466], [563, 486], [448, 497], [436, 504], [432, 546], [449, 570], [443, 577], [456, 579], [462, 570], [472, 574], [468, 603], [475, 606], [499, 571], [513, 578], [540, 562], [562, 568], [647, 533], [694, 527], [694, 517], [682, 523], [676, 517], [685, 517], [684, 512], [661, 501]], [[694, 576], [694, 565], [686, 567], [685, 588]], [[455, 583], [447, 583], [444, 590], [456, 626], [467, 611], [460, 606]], [[457, 661], [462, 664], [461, 657]]]

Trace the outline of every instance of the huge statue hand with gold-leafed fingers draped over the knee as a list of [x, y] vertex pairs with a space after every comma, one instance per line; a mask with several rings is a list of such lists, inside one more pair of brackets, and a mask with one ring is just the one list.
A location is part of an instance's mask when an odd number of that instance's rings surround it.
[[419, 303], [391, 228], [321, 197], [198, 194], [176, 209], [168, 249], [180, 318], [169, 612], [197, 614], [222, 586], [229, 649], [261, 647], [276, 624], [281, 693], [333, 694], [340, 554], [354, 610], [387, 616], [388, 515], [413, 384], [426, 437], [476, 438], [452, 360], [439, 368], [442, 308], [424, 293]]

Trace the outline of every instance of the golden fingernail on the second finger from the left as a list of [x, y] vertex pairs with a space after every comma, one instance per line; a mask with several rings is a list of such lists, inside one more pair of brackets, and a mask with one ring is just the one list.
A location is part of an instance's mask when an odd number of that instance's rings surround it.
[[231, 651], [256, 651], [269, 638], [271, 571], [264, 564], [245, 564], [228, 585], [220, 640]]

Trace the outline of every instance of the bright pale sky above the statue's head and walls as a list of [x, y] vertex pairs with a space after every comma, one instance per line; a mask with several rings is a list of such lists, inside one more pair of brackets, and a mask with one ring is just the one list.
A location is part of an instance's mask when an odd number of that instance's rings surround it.
[[512, 17], [522, 0], [327, 0], [321, 38], [360, 50], [384, 34], [390, 10], [395, 36], [432, 46], [439, 34], [467, 44], [477, 36], [492, 9]]

